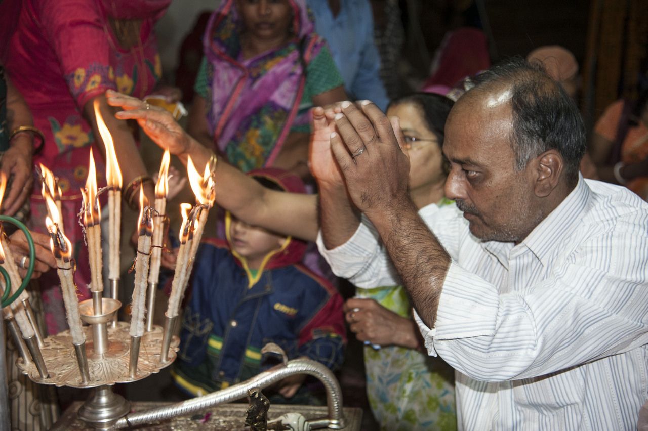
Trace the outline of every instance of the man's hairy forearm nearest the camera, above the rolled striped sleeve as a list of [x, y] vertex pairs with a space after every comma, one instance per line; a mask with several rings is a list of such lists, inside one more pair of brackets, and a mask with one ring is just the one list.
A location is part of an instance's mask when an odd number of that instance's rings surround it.
[[423, 322], [434, 327], [439, 296], [450, 256], [423, 223], [413, 203], [380, 217], [369, 217], [387, 247], [413, 305]]

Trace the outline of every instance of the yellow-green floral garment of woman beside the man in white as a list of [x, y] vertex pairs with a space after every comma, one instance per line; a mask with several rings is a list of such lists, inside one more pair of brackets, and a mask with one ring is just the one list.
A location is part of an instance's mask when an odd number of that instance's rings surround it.
[[[402, 286], [363, 289], [363, 297], [403, 317], [411, 305]], [[381, 430], [456, 430], [454, 370], [440, 358], [397, 346], [364, 349], [367, 396]]]

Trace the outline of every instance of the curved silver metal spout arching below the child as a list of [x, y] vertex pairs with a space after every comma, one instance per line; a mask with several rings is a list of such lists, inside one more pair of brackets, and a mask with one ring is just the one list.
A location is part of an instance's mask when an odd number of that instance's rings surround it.
[[250, 388], [267, 388], [284, 378], [295, 374], [307, 374], [322, 382], [327, 393], [327, 406], [329, 416], [325, 418], [312, 419], [308, 421], [311, 429], [330, 428], [341, 430], [345, 428], [345, 418], [342, 410], [342, 392], [340, 383], [333, 373], [326, 366], [310, 359], [293, 359], [286, 364], [277, 365], [270, 370], [263, 371], [247, 381], [240, 382], [229, 388], [203, 395], [181, 403], [171, 404], [146, 410], [145, 412], [134, 412], [119, 419], [115, 428], [128, 428], [145, 423], [163, 421], [171, 417], [185, 416], [200, 412], [218, 404], [230, 403], [242, 399], [248, 394]]

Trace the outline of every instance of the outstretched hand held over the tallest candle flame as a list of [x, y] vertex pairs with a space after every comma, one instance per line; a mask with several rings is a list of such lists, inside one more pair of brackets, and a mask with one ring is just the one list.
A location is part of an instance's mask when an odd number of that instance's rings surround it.
[[137, 120], [139, 127], [161, 148], [176, 155], [189, 150], [191, 138], [165, 109], [112, 90], [106, 91], [106, 98], [109, 105], [123, 109], [115, 114], [116, 118]]

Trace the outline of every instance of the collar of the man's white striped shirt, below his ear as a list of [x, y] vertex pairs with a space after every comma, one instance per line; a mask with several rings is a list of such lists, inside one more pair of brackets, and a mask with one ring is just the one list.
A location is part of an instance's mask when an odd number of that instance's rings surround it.
[[[569, 195], [531, 231], [518, 247], [526, 247], [547, 266], [552, 250], [581, 222], [592, 191], [579, 173]], [[516, 247], [517, 248], [517, 247]]]

